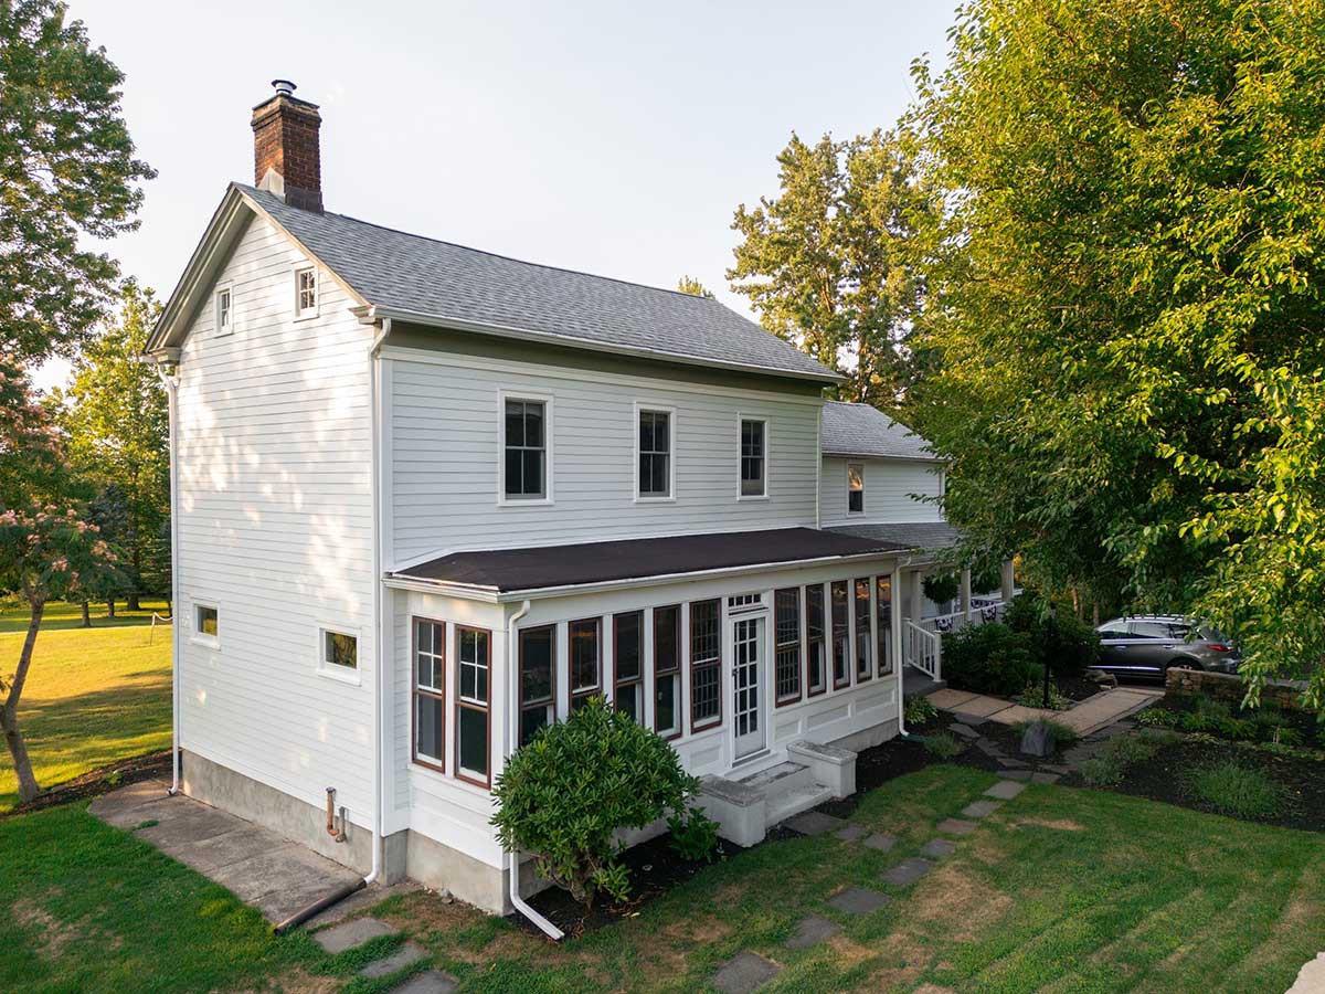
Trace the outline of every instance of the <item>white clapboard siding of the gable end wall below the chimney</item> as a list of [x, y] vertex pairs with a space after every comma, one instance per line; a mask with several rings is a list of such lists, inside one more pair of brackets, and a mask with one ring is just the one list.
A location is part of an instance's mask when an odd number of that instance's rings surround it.
[[[294, 321], [306, 261], [253, 221], [219, 282], [235, 333], [204, 306], [179, 388], [182, 742], [351, 820], [372, 814], [371, 331], [323, 272], [319, 315]], [[216, 648], [193, 606], [220, 610]], [[359, 634], [358, 685], [318, 672], [318, 630]]]

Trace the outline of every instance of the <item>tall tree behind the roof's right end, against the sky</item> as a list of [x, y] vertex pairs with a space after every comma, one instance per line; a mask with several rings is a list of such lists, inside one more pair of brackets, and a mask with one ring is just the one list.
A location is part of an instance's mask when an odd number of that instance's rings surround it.
[[778, 163], [780, 193], [737, 208], [727, 278], [768, 331], [847, 376], [844, 399], [896, 411], [922, 364], [908, 342], [922, 293], [910, 243], [931, 212], [909, 139], [792, 134]]

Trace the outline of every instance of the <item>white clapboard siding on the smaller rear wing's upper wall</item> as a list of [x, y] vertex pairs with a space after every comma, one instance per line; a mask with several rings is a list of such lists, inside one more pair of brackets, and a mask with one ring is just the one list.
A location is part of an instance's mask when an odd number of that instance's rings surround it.
[[[847, 464], [865, 467], [865, 512], [847, 514]], [[902, 459], [843, 459], [824, 456], [820, 476], [820, 514], [824, 527], [833, 525], [885, 525], [896, 522], [942, 521], [937, 504], [917, 496], [942, 493], [938, 463]]]

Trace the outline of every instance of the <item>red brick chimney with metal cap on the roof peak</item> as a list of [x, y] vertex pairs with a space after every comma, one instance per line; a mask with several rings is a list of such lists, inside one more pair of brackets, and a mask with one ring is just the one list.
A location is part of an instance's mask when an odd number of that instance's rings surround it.
[[273, 80], [276, 95], [253, 107], [253, 175], [258, 190], [305, 211], [322, 209], [318, 105], [294, 95], [289, 80]]

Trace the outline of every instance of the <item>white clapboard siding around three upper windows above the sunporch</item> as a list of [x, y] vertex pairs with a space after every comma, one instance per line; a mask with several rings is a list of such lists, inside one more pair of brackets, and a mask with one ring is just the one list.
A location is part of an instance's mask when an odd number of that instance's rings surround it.
[[[819, 402], [517, 362], [391, 355], [395, 561], [453, 549], [814, 526]], [[500, 391], [553, 398], [551, 505], [501, 506]], [[674, 410], [674, 501], [635, 501], [636, 403]], [[737, 500], [738, 415], [768, 421], [768, 498]]]

